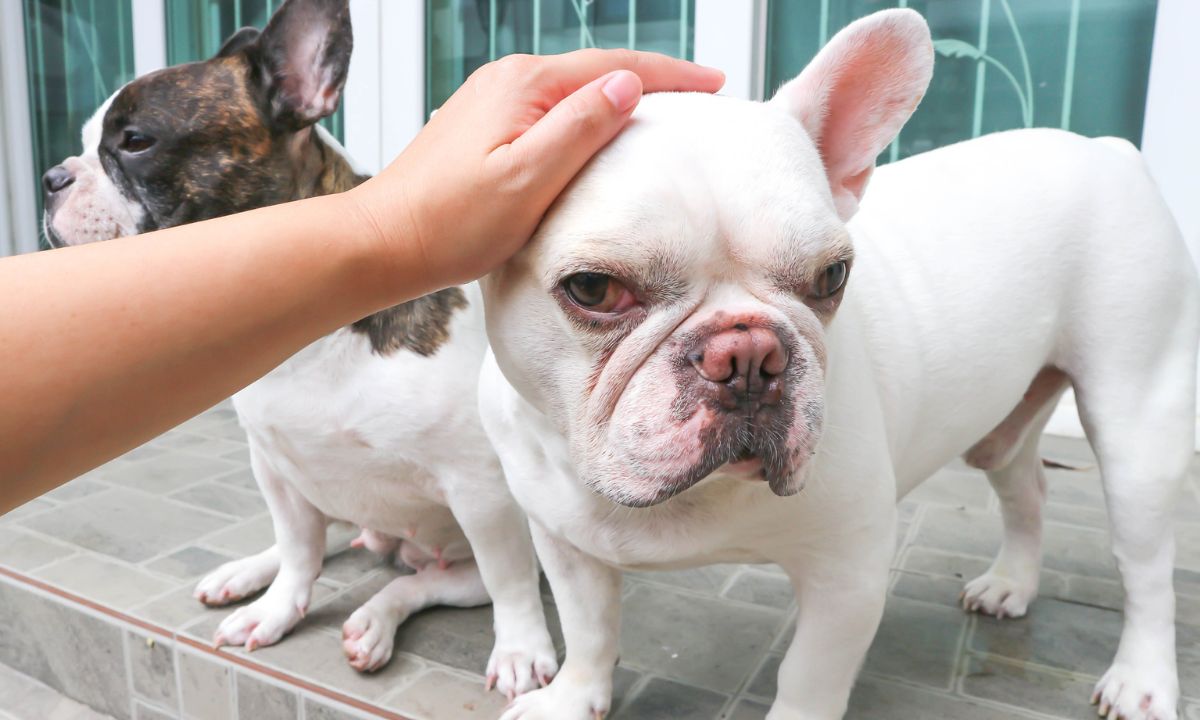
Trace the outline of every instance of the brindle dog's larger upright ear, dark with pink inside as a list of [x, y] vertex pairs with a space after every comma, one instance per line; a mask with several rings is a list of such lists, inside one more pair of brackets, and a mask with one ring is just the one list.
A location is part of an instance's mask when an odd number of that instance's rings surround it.
[[247, 48], [271, 122], [294, 132], [332, 115], [353, 48], [349, 0], [287, 0]]

